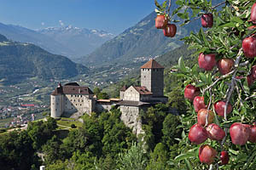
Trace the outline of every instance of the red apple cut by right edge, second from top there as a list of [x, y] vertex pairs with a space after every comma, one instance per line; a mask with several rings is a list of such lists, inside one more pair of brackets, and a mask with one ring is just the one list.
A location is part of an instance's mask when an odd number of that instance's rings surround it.
[[242, 41], [243, 53], [247, 58], [256, 57], [256, 37], [246, 37]]

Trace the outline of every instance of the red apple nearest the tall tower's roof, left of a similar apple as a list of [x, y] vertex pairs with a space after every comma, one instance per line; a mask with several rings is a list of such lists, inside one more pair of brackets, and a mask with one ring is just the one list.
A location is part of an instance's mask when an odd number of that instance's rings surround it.
[[200, 54], [198, 57], [198, 65], [206, 71], [212, 71], [216, 65], [215, 54]]

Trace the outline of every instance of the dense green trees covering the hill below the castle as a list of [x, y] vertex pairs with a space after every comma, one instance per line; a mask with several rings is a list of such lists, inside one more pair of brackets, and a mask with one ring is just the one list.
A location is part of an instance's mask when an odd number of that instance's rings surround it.
[[166, 161], [176, 156], [175, 150], [169, 151], [177, 140], [170, 134], [179, 138], [182, 131], [177, 128], [178, 117], [167, 110], [166, 105], [157, 105], [142, 113], [147, 149], [137, 144], [136, 136], [120, 121], [121, 113], [115, 109], [84, 116], [83, 127], [72, 129], [64, 138], [60, 138], [63, 130], [56, 129], [53, 118], [31, 122], [26, 131], [0, 134], [0, 166], [5, 170], [36, 170], [40, 165], [47, 170], [172, 167]]

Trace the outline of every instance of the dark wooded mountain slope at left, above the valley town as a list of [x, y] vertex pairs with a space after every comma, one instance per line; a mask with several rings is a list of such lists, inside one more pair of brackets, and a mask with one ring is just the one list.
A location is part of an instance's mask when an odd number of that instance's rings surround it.
[[88, 72], [84, 65], [33, 44], [10, 42], [2, 35], [0, 41], [0, 82], [20, 82], [29, 77], [61, 79]]

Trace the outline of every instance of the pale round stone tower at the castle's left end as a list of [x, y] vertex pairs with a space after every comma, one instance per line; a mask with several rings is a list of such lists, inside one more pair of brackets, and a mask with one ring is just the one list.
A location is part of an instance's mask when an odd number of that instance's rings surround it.
[[51, 117], [60, 117], [63, 112], [63, 88], [61, 83], [55, 91], [50, 94], [50, 116]]

